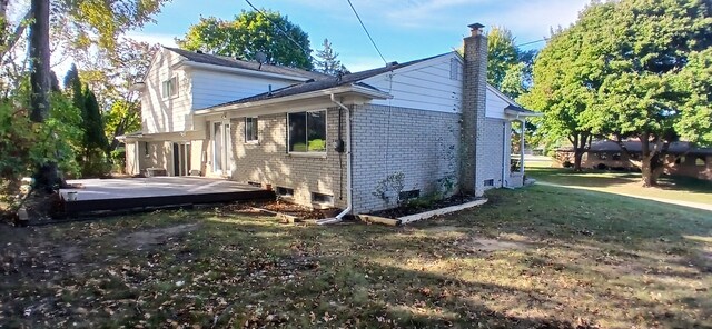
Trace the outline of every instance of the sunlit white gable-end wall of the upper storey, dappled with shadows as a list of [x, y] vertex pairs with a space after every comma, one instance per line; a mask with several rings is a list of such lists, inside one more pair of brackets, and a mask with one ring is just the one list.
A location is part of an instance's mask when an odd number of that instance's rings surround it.
[[[191, 127], [190, 80], [182, 69], [172, 68], [181, 56], [161, 48], [154, 57], [146, 74], [146, 89], [141, 93], [141, 120], [144, 133], [184, 131]], [[170, 77], [178, 77], [178, 94], [161, 97], [161, 83]]]

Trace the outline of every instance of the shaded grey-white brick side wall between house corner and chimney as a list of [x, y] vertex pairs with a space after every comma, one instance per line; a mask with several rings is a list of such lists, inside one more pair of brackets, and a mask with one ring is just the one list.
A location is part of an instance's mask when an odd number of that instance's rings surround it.
[[447, 182], [457, 188], [459, 151], [458, 113], [386, 106], [357, 106], [353, 111], [354, 212], [364, 213], [397, 206], [374, 196], [379, 183], [403, 172], [404, 191], [421, 196], [444, 192]]

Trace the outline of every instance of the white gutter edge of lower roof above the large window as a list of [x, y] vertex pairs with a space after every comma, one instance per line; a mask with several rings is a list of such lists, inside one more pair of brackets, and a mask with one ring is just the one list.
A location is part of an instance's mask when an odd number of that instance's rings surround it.
[[279, 97], [279, 98], [258, 100], [255, 102], [245, 102], [245, 103], [228, 104], [224, 107], [215, 107], [215, 108], [208, 108], [202, 110], [196, 110], [194, 113], [196, 116], [207, 116], [207, 114], [220, 113], [220, 112], [239, 110], [239, 109], [266, 107], [270, 104], [277, 104], [281, 102], [295, 101], [295, 100], [301, 100], [301, 99], [309, 99], [309, 98], [315, 98], [320, 96], [322, 97], [329, 96], [332, 99], [334, 99], [335, 93], [346, 93], [346, 92], [358, 92], [360, 94], [364, 94], [374, 99], [392, 98], [392, 96], [388, 93], [373, 90], [370, 88], [364, 88], [359, 86], [343, 86], [343, 87], [317, 90], [312, 92], [290, 94], [290, 96]]

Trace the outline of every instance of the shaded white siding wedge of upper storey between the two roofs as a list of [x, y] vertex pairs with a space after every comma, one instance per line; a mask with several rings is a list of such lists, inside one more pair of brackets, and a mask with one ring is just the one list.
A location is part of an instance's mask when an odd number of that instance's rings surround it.
[[236, 73], [190, 69], [192, 86], [192, 109], [205, 109], [241, 98], [284, 88], [293, 80], [238, 76]]

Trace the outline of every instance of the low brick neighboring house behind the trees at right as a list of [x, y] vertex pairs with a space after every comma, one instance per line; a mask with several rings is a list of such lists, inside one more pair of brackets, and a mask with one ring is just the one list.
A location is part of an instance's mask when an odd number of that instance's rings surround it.
[[[589, 151], [583, 154], [581, 166], [596, 169], [639, 170], [639, 166], [634, 162], [641, 160], [641, 142], [624, 141], [623, 146], [627, 154], [615, 141], [594, 141]], [[572, 148], [562, 148], [556, 152], [558, 164], [573, 163]], [[664, 172], [668, 175], [712, 180], [712, 149], [695, 148], [689, 142], [672, 142], [666, 146], [664, 166]]]

